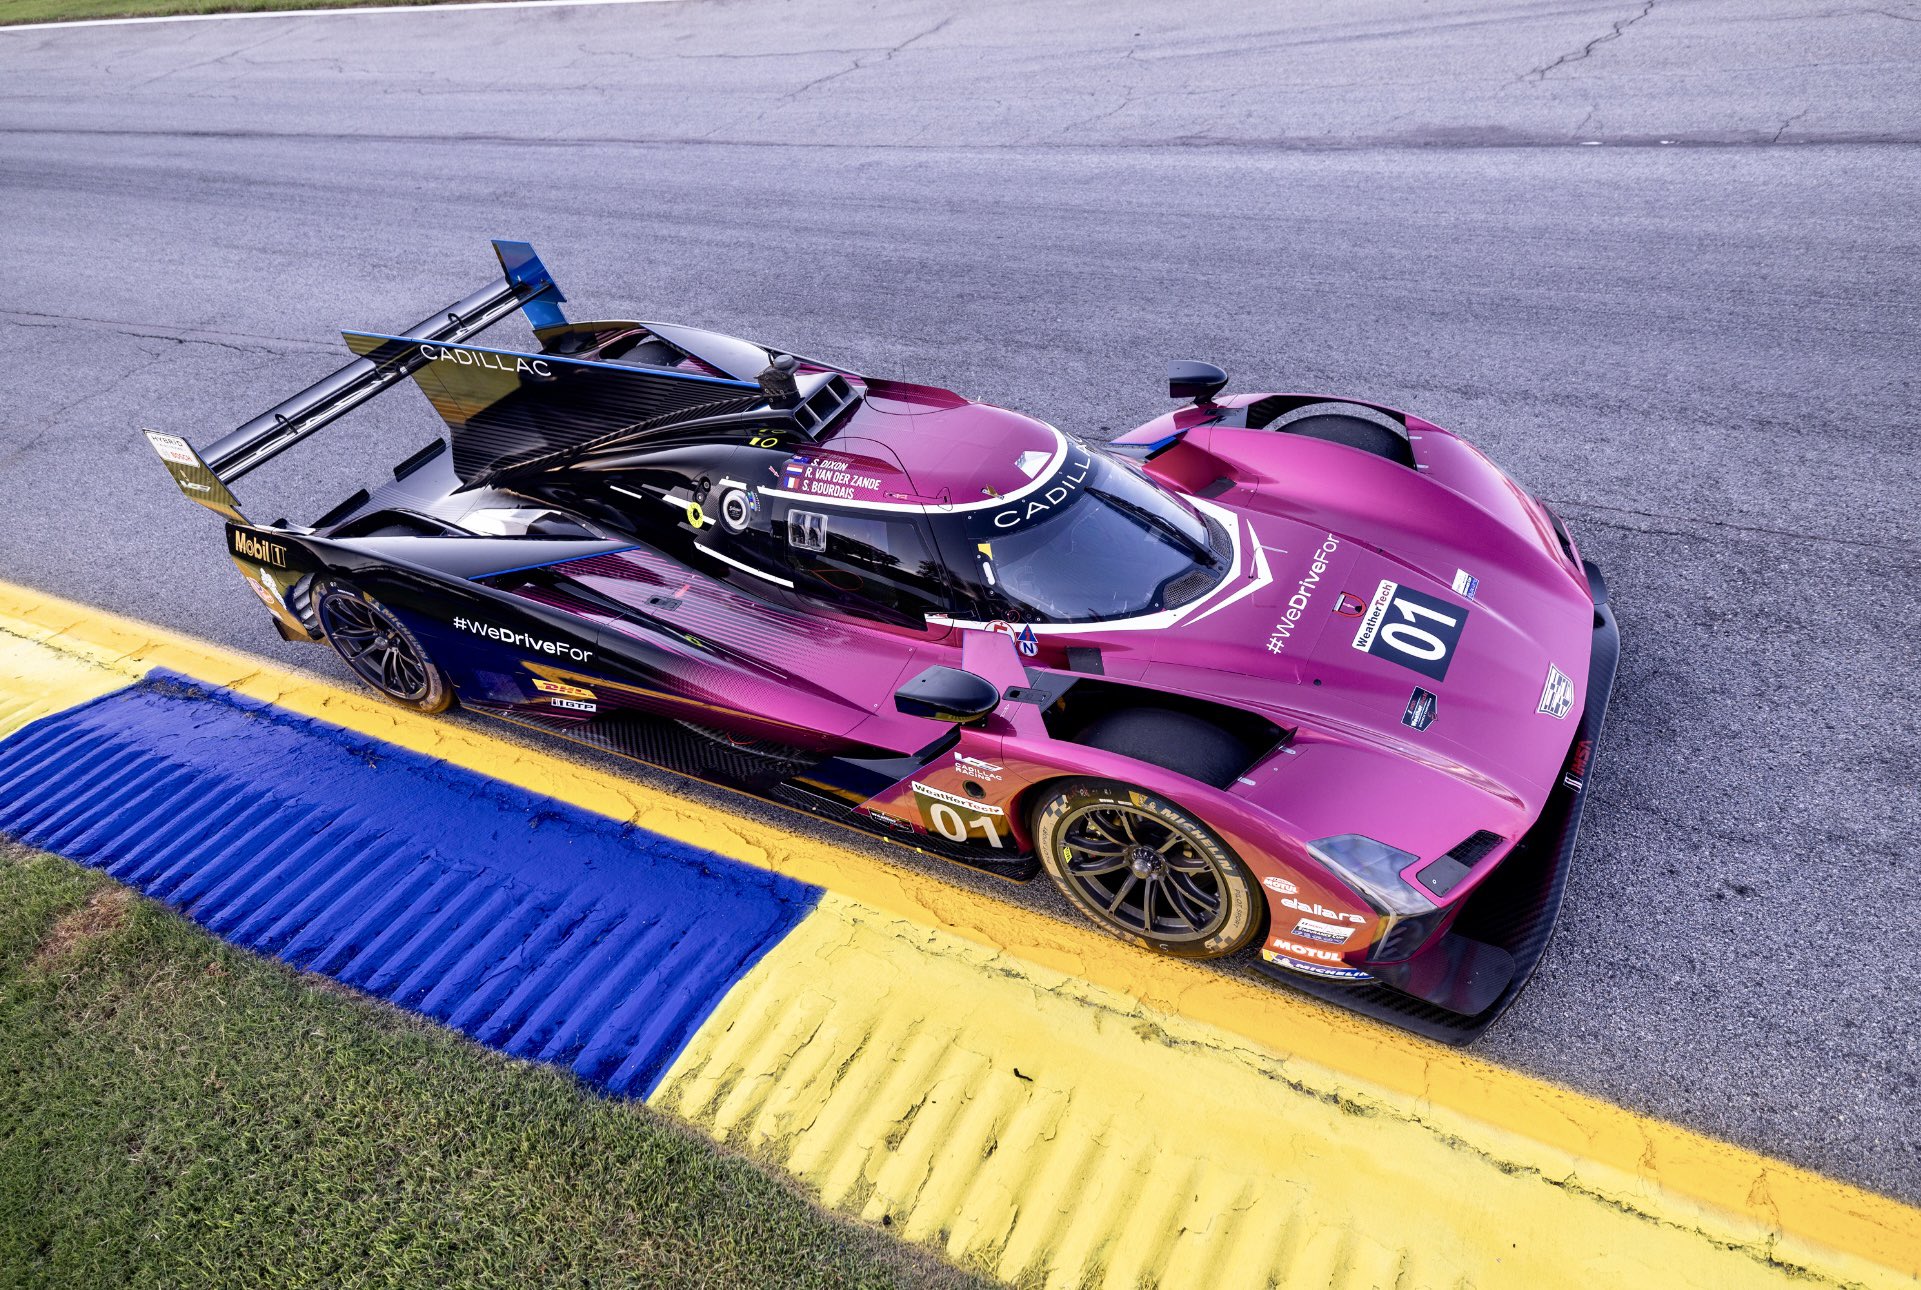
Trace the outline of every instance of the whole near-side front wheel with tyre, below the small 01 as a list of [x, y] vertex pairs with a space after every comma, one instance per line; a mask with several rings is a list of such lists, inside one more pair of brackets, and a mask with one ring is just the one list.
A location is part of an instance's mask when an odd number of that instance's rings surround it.
[[1220, 958], [1260, 937], [1266, 900], [1241, 858], [1174, 802], [1066, 779], [1033, 806], [1033, 850], [1074, 906], [1124, 941]]

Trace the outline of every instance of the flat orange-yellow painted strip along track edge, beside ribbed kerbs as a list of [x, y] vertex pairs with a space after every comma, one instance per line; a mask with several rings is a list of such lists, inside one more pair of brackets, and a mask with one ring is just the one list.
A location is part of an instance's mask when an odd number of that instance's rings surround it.
[[[943, 929], [943, 946], [972, 944], [1003, 964], [1003, 954], [1018, 956], [1020, 973], [1030, 983], [1022, 987], [1022, 1000], [1045, 1006], [1047, 1000], [1080, 998], [1078, 991], [1093, 991], [1101, 992], [1101, 1010], [1120, 1008], [1116, 1015], [1135, 1017], [1149, 1029], [1174, 1033], [1170, 1027], [1199, 1027], [1197, 1033], [1204, 1031], [1212, 1048], [1247, 1050], [1247, 1062], [1279, 1063], [1287, 1079], [1341, 1104], [1391, 1108], [1395, 1123], [1427, 1125], [1441, 1136], [1456, 1136], [1470, 1144], [1470, 1156], [1479, 1152], [1498, 1161], [1496, 1173], [1504, 1177], [1506, 1171], [1520, 1171], [1558, 1190], [1591, 1190], [1604, 1204], [1642, 1215], [1637, 1219], [1642, 1225], [1717, 1230], [1740, 1248], [1754, 1248], [1756, 1240], [1763, 1246], [1773, 1242], [1783, 1261], [1802, 1263], [1806, 1257], [1804, 1265], [1827, 1269], [1823, 1277], [1840, 1282], [1921, 1282], [1917, 1209], [1279, 989], [1153, 958], [1091, 929], [984, 898], [914, 870], [8, 584], [0, 584], [0, 632], [46, 641], [121, 678], [136, 678], [156, 666], [173, 668], [816, 883], [868, 906], [876, 918], [891, 916], [930, 933]], [[6, 680], [0, 676], [0, 681]], [[820, 921], [832, 925], [836, 920]], [[801, 954], [813, 935], [803, 923], [790, 939], [791, 952]], [[768, 962], [786, 962], [780, 958], [784, 952], [786, 946]], [[951, 958], [945, 948], [943, 954]], [[757, 985], [761, 975], [749, 977], [742, 989]], [[1124, 1008], [1114, 1000], [1124, 1000]], [[947, 1004], [936, 996], [920, 1012]], [[1145, 1106], [1141, 1115], [1149, 1115]], [[1327, 1167], [1337, 1165], [1329, 1161]], [[1276, 1167], [1270, 1184], [1293, 1186], [1287, 1177]], [[1506, 1221], [1498, 1209], [1475, 1217], [1481, 1200], [1471, 1194], [1456, 1194], [1452, 1206], [1454, 1219], [1464, 1229], [1479, 1229], [1483, 1240], [1495, 1240]], [[1483, 1248], [1481, 1257], [1495, 1255]], [[1481, 1267], [1473, 1278], [1485, 1273]], [[1656, 1277], [1650, 1284], [1681, 1282]]]

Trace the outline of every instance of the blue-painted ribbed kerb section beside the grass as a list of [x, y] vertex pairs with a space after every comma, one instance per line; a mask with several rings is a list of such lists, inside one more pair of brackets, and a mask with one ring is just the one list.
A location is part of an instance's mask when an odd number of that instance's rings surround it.
[[0, 831], [628, 1096], [820, 898], [167, 672], [0, 741]]

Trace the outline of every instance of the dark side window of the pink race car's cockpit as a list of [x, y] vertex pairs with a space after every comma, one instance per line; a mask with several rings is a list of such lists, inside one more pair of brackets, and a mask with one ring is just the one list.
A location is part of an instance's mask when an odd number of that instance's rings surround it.
[[947, 612], [947, 582], [920, 522], [901, 514], [788, 511], [793, 589], [884, 622]]

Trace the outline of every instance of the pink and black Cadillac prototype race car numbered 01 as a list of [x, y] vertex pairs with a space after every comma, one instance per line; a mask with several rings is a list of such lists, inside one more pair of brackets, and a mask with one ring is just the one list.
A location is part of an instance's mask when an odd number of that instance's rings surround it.
[[[534, 250], [196, 449], [280, 635], [1001, 877], [1162, 954], [1448, 1040], [1539, 960], [1617, 633], [1566, 526], [1377, 403], [1222, 397], [1110, 443], [667, 322]], [[524, 311], [538, 349], [473, 344]], [[448, 436], [311, 524], [231, 486], [413, 378]]]

